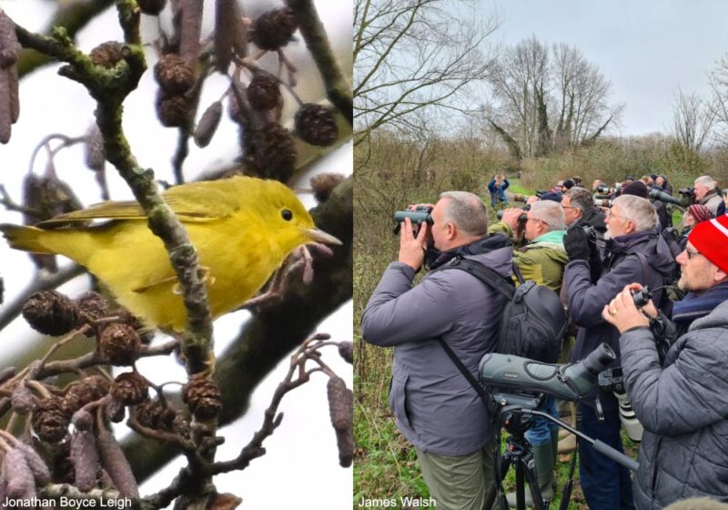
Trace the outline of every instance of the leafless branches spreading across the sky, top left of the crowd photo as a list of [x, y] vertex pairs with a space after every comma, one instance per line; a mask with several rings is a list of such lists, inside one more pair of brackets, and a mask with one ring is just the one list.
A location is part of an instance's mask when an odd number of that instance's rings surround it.
[[485, 42], [498, 24], [467, 2], [357, 0], [355, 144], [384, 126], [411, 130], [425, 108], [470, 111], [461, 99], [492, 62]]

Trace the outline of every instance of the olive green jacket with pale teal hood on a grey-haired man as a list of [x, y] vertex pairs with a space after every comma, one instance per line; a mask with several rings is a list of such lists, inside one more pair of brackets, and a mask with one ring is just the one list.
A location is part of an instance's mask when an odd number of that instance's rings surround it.
[[[511, 227], [499, 221], [490, 226], [490, 232], [501, 232], [511, 237]], [[552, 230], [513, 250], [513, 260], [524, 280], [534, 280], [557, 294], [561, 291], [563, 268], [569, 262], [563, 249], [566, 230]], [[516, 280], [515, 276], [513, 280]]]

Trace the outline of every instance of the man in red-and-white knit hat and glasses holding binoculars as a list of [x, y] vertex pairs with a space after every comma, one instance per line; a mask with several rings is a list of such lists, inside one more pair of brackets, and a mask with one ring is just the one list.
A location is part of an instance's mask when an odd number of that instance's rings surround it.
[[[696, 225], [678, 257], [681, 286], [702, 295], [728, 282], [726, 253], [728, 217]], [[632, 299], [640, 288], [627, 285], [602, 310], [622, 334], [627, 393], [644, 427], [635, 504], [662, 508], [699, 495], [728, 502], [728, 301], [693, 321], [661, 364], [646, 314], [653, 304], [642, 311]]]

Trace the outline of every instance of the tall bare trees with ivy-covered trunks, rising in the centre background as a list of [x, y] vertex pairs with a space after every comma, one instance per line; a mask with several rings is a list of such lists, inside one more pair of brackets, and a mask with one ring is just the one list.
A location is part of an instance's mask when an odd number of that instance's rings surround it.
[[623, 108], [610, 104], [612, 84], [580, 50], [561, 44], [549, 52], [536, 36], [508, 48], [489, 81], [497, 102], [490, 122], [514, 156], [598, 138]]

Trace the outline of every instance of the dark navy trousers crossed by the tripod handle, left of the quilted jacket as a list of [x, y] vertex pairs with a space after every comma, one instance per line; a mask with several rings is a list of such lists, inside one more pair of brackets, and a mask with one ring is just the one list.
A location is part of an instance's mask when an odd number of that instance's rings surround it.
[[[622, 423], [617, 410], [604, 411], [604, 421], [588, 405], [579, 404], [579, 430], [624, 453], [620, 430]], [[579, 441], [579, 477], [589, 510], [629, 510], [635, 508], [630, 471], [600, 454], [584, 441]]]

